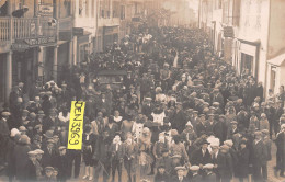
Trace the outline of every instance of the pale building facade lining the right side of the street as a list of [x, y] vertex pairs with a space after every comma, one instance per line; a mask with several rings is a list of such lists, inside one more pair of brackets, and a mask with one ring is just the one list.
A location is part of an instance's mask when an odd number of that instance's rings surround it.
[[[218, 9], [216, 9], [218, 7]], [[200, 27], [209, 33], [214, 50], [274, 93], [284, 86], [285, 18], [282, 0], [201, 0]]]

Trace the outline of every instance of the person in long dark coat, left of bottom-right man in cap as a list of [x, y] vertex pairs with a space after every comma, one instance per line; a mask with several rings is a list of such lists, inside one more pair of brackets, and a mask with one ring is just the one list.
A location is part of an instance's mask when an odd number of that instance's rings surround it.
[[237, 163], [237, 177], [240, 182], [248, 178], [249, 174], [249, 149], [247, 148], [247, 141], [241, 140], [240, 149], [238, 150], [238, 163]]

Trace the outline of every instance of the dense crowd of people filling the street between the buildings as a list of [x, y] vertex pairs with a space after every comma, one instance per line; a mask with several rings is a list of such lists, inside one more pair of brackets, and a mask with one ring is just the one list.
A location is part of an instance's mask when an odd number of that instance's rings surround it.
[[[284, 177], [284, 87], [263, 86], [213, 52], [197, 29], [148, 27], [88, 56], [62, 79], [14, 86], [0, 120], [9, 181], [240, 182]], [[101, 70], [124, 70], [119, 88]], [[67, 149], [71, 101], [84, 101], [82, 150]], [[127, 177], [122, 177], [126, 172]], [[117, 173], [117, 178], [115, 177]], [[78, 179], [79, 180], [79, 179]]]

